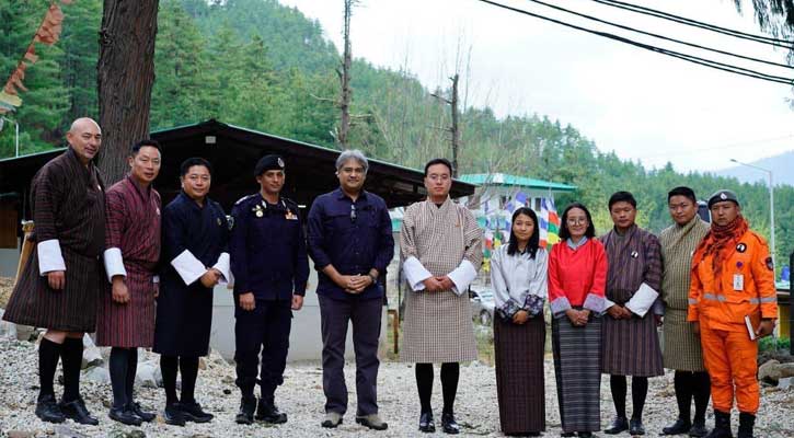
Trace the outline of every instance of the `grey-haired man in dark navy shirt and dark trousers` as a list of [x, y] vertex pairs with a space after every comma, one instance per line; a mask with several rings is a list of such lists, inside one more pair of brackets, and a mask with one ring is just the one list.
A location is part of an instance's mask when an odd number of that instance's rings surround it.
[[334, 428], [347, 411], [345, 341], [353, 323], [356, 353], [356, 422], [375, 430], [388, 427], [378, 415], [378, 339], [383, 278], [394, 255], [386, 201], [364, 189], [369, 163], [358, 150], [336, 160], [340, 187], [314, 199], [309, 211], [309, 255], [318, 269], [323, 337], [322, 426]]

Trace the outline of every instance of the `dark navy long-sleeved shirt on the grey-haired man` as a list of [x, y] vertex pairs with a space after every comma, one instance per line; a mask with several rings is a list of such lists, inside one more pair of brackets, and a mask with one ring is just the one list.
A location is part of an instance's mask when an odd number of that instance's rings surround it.
[[[379, 275], [394, 256], [394, 239], [386, 201], [378, 195], [361, 192], [354, 203], [341, 188], [320, 195], [309, 211], [309, 254], [318, 269], [318, 295], [348, 298], [322, 269], [333, 265], [342, 275]], [[377, 298], [383, 289], [370, 286], [360, 298]]]

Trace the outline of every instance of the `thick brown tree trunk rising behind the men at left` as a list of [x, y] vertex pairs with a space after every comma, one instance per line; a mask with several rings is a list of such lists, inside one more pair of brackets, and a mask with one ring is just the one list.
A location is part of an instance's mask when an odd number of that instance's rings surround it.
[[96, 83], [107, 185], [127, 172], [133, 143], [149, 137], [159, 0], [104, 0]]

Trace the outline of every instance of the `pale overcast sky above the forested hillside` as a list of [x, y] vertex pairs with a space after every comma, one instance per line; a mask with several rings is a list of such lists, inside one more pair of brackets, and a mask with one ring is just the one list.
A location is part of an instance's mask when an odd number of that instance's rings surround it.
[[[279, 0], [317, 19], [342, 47], [343, 0]], [[693, 30], [587, 0], [557, 5], [727, 51], [785, 62], [785, 53]], [[733, 0], [628, 0], [724, 27], [759, 34], [751, 8]], [[500, 0], [543, 15], [609, 31], [665, 48], [794, 77], [794, 70], [740, 62], [630, 34], [555, 12], [528, 0]], [[428, 88], [448, 85], [458, 47], [470, 53], [463, 78], [469, 103], [498, 116], [548, 115], [575, 126], [601, 151], [647, 166], [717, 170], [730, 158], [753, 161], [794, 150], [794, 112], [784, 84], [712, 70], [621, 43], [497, 9], [476, 0], [361, 0], [352, 23], [353, 53], [370, 62], [406, 67]], [[460, 44], [459, 44], [460, 42]]]

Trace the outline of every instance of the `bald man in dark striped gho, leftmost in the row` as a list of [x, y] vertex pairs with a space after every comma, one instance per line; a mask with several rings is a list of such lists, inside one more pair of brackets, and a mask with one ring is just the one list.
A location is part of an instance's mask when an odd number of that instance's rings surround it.
[[[104, 184], [93, 158], [102, 130], [90, 118], [74, 120], [66, 135], [69, 148], [33, 177], [31, 211], [34, 246], [11, 295], [3, 319], [45, 327], [38, 346], [36, 415], [44, 422], [71, 418], [99, 422], [80, 397], [83, 334], [96, 325], [105, 240]], [[53, 381], [64, 365], [64, 397], [56, 403]]]

